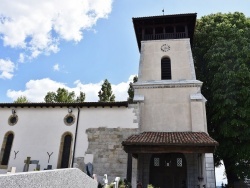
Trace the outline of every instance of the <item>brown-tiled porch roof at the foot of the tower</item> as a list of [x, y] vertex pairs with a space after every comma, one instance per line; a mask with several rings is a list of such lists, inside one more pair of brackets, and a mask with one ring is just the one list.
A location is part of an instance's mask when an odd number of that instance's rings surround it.
[[218, 144], [205, 132], [143, 132], [122, 142], [127, 153], [213, 153]]

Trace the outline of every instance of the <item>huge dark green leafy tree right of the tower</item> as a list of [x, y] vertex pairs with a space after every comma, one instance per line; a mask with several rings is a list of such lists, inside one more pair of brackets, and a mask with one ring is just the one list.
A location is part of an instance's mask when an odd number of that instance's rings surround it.
[[193, 55], [207, 98], [209, 134], [219, 142], [229, 187], [250, 178], [250, 19], [211, 14], [197, 21]]

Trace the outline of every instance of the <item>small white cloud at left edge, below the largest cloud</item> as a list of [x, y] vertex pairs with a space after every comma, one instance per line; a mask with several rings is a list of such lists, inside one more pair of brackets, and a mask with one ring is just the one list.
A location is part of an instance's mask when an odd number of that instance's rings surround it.
[[15, 64], [10, 60], [0, 59], [0, 78], [11, 79], [13, 77], [13, 72], [15, 69]]

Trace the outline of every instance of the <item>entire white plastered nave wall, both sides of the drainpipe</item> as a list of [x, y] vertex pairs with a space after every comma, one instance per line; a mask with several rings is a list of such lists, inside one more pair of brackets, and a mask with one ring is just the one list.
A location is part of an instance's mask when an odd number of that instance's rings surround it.
[[[15, 108], [18, 116], [18, 122], [14, 126], [8, 124], [12, 108], [0, 109], [0, 145], [4, 135], [8, 131], [14, 132], [14, 141], [11, 149], [8, 168], [17, 167], [17, 172], [22, 172], [24, 160], [29, 156], [31, 160], [39, 160], [41, 169], [52, 165], [57, 168], [59, 147], [61, 137], [65, 132], [70, 132], [73, 136], [72, 150], [75, 137], [77, 122], [77, 108], [73, 108], [73, 114], [76, 121], [73, 125], [64, 124], [64, 117], [68, 114], [68, 108]], [[138, 128], [137, 123], [133, 123], [135, 113], [133, 108], [125, 107], [99, 107], [99, 108], [80, 108], [79, 127], [77, 135], [77, 145], [75, 157], [85, 157], [85, 162], [92, 162], [93, 156], [85, 156], [88, 148], [87, 134], [88, 128], [108, 127], [108, 128]], [[19, 151], [14, 159], [14, 151]], [[48, 163], [47, 152], [53, 154]], [[71, 163], [70, 163], [71, 164]], [[30, 165], [30, 170], [34, 170], [35, 165]], [[1, 170], [0, 173], [5, 173]]]

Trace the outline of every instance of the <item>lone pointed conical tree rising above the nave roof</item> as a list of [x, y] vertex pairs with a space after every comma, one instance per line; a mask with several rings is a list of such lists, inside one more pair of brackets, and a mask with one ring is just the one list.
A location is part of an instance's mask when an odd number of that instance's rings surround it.
[[98, 92], [99, 102], [114, 102], [115, 95], [112, 92], [111, 84], [107, 79], [104, 80], [101, 90]]

